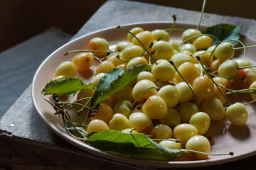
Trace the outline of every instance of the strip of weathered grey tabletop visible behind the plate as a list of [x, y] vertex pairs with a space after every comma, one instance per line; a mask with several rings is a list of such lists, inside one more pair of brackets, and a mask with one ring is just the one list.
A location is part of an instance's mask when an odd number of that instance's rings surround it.
[[[78, 38], [81, 35], [91, 33], [95, 30], [127, 23], [173, 21], [173, 14], [176, 14], [177, 23], [198, 24], [201, 16], [200, 12], [184, 10], [182, 8], [145, 4], [137, 1], [107, 1], [73, 38]], [[201, 24], [213, 26], [218, 23], [230, 23], [238, 26], [243, 21], [245, 21], [245, 23], [242, 26], [241, 33], [256, 39], [256, 21], [252, 19], [204, 13]]]

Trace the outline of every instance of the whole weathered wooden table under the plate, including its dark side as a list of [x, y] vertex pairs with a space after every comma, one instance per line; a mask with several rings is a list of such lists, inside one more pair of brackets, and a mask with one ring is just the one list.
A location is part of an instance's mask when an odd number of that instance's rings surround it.
[[[107, 1], [78, 31], [73, 38], [95, 30], [125, 23], [144, 21], [172, 21], [198, 23], [201, 13], [144, 4], [136, 1]], [[239, 15], [239, 13], [238, 13]], [[202, 24], [218, 23], [239, 25], [245, 21], [241, 33], [256, 39], [256, 21], [251, 19], [203, 15]], [[208, 166], [207, 169], [252, 169], [256, 156], [235, 162]], [[113, 162], [85, 152], [50, 131], [39, 118], [31, 101], [31, 86], [23, 92], [0, 120], [0, 169], [147, 169]], [[205, 169], [203, 167], [198, 169]]]

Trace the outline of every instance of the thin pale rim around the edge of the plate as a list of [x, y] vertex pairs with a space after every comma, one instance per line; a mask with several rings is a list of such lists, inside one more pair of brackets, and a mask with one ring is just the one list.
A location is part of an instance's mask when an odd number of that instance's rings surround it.
[[[150, 25], [150, 24], [167, 24], [167, 23], [173, 23], [173, 22], [169, 22], [169, 21], [146, 21], [146, 22], [136, 22], [136, 23], [127, 23], [127, 24], [122, 24], [121, 26], [137, 26], [137, 25]], [[186, 22], [178, 22], [176, 23], [178, 25], [184, 25], [184, 26], [197, 26], [195, 23], [186, 23]], [[200, 26], [201, 28], [206, 28], [208, 26], [201, 24]], [[56, 52], [58, 52], [60, 49], [62, 49], [63, 47], [70, 45], [71, 43], [80, 40], [84, 37], [87, 37], [89, 35], [93, 35], [96, 33], [100, 33], [102, 31], [105, 30], [110, 30], [116, 28], [116, 26], [110, 26], [108, 28], [102, 28], [100, 30], [95, 30], [91, 33], [87, 33], [85, 35], [81, 35], [78, 38], [74, 38], [73, 40], [70, 40], [69, 42], [65, 43], [64, 45], [61, 45], [60, 47], [58, 47], [58, 49], [54, 50], [50, 55], [48, 55], [48, 57], [46, 57], [45, 60], [43, 60], [43, 62], [39, 65], [38, 69], [36, 69], [35, 74], [33, 75], [33, 79], [32, 79], [32, 86], [31, 86], [31, 98], [32, 98], [32, 103], [33, 106], [36, 108], [36, 112], [38, 113], [38, 115], [41, 117], [41, 119], [43, 119], [43, 121], [46, 123], [46, 125], [50, 128], [50, 130], [52, 130], [56, 135], [58, 135], [59, 137], [61, 137], [63, 140], [69, 142], [72, 145], [75, 145], [76, 147], [79, 147], [80, 149], [84, 150], [85, 152], [90, 152], [91, 154], [97, 154], [100, 157], [104, 157], [105, 159], [107, 159], [110, 162], [112, 161], [112, 158], [118, 158], [118, 162], [122, 162], [124, 164], [127, 164], [127, 161], [132, 160], [132, 165], [135, 166], [149, 166], [149, 167], [158, 167], [158, 168], [188, 168], [188, 167], [199, 167], [199, 166], [210, 166], [210, 165], [215, 165], [215, 164], [223, 164], [223, 163], [228, 163], [228, 162], [233, 162], [233, 161], [237, 161], [246, 157], [250, 157], [252, 155], [255, 155], [256, 153], [256, 149], [251, 152], [247, 152], [246, 154], [242, 154], [238, 157], [228, 157], [225, 159], [205, 159], [205, 160], [194, 160], [194, 161], [181, 161], [181, 162], [175, 162], [175, 161], [171, 161], [171, 162], [152, 162], [152, 161], [146, 161], [143, 159], [134, 159], [134, 158], [128, 158], [128, 157], [121, 157], [121, 156], [117, 156], [114, 154], [108, 154], [107, 152], [102, 152], [99, 149], [95, 149], [94, 147], [90, 147], [89, 145], [85, 144], [84, 142], [75, 139], [74, 137], [71, 137], [70, 135], [68, 135], [67, 133], [63, 133], [60, 130], [58, 130], [58, 128], [55, 127], [55, 125], [50, 124], [46, 118], [43, 116], [43, 113], [41, 113], [40, 108], [38, 107], [38, 104], [36, 103], [36, 94], [34, 94], [34, 89], [35, 89], [35, 81], [36, 81], [36, 77], [38, 75], [38, 72], [40, 71], [41, 67], [43, 66], [43, 64], [51, 57], [53, 56]], [[256, 41], [253, 38], [247, 37], [246, 35], [244, 35], [246, 38], [248, 38], [249, 40], [252, 41]], [[82, 143], [81, 143], [82, 142]], [[82, 145], [83, 144], [83, 145]], [[87, 149], [85, 149], [85, 145]]]

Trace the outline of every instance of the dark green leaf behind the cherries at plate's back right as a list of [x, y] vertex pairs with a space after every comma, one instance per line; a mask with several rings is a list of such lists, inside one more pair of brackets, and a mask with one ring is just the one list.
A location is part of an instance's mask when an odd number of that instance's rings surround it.
[[[226, 40], [239, 40], [240, 38], [240, 29], [242, 27], [242, 24], [239, 26], [233, 26], [227, 23], [221, 23], [215, 26], [211, 26], [209, 28], [206, 28], [202, 30], [202, 33], [215, 35], [221, 42], [224, 42]], [[236, 41], [230, 41], [233, 45], [237, 45], [238, 42]], [[216, 45], [218, 43], [218, 40], [213, 38], [213, 45]]]

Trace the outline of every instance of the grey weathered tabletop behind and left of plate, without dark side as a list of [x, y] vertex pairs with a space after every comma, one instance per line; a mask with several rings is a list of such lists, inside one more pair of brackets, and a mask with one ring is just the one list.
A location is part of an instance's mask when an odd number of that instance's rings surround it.
[[[144, 4], [136, 1], [107, 1], [90, 18], [87, 23], [78, 31], [73, 38], [90, 33], [95, 30], [118, 26], [125, 23], [144, 22], [144, 21], [172, 21], [172, 14], [177, 16], [177, 22], [198, 23], [201, 13], [196, 11], [183, 10], [181, 8], [171, 8], [157, 6], [154, 4]], [[239, 15], [239, 13], [238, 13]], [[202, 24], [212, 26], [218, 23], [230, 23], [239, 25], [245, 21], [241, 33], [256, 39], [256, 21], [229, 16], [219, 16], [212, 13], [203, 15]], [[0, 120], [0, 137], [16, 137], [33, 142], [43, 143], [47, 146], [66, 146], [63, 140], [53, 134], [43, 123], [36, 113], [31, 101], [31, 86], [18, 98], [13, 106], [6, 112]], [[247, 167], [256, 164], [247, 159]], [[238, 167], [242, 167], [240, 162], [236, 162]], [[244, 165], [243, 165], [244, 166]], [[220, 166], [210, 166], [210, 169], [220, 168]], [[222, 166], [225, 167], [225, 166]], [[226, 166], [228, 167], [228, 165]], [[236, 169], [235, 168], [235, 169]]]

